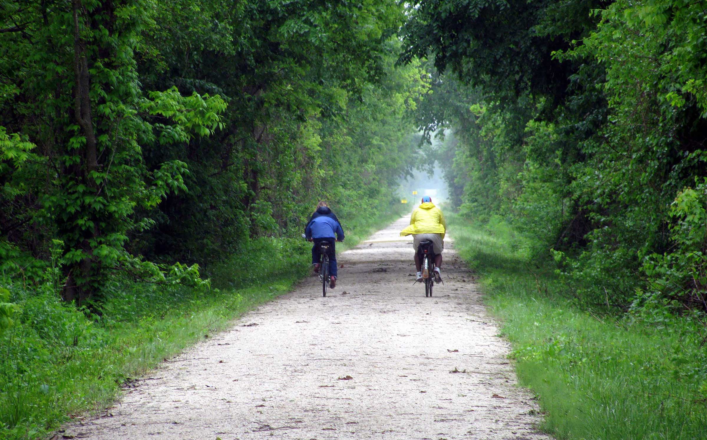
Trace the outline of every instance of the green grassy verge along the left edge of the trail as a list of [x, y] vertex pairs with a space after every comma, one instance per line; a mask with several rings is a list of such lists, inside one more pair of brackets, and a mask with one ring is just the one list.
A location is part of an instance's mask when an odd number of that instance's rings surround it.
[[[399, 215], [392, 207], [354, 219], [346, 247]], [[72, 415], [107, 407], [125, 381], [290, 290], [308, 273], [309, 249], [301, 238], [251, 241], [247, 260], [210, 268], [210, 291], [116, 281], [102, 316], [76, 311], [49, 286], [6, 282], [21, 312], [0, 334], [0, 439], [46, 438]]]

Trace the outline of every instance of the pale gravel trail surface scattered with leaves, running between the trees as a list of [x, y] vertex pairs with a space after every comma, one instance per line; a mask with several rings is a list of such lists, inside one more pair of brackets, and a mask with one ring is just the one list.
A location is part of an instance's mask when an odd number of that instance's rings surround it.
[[339, 255], [326, 298], [306, 279], [64, 438], [547, 439], [450, 240], [445, 284], [414, 284], [408, 223]]

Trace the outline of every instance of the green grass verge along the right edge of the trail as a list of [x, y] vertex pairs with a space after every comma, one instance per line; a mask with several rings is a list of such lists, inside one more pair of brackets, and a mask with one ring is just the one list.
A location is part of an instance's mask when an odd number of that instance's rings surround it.
[[[518, 378], [559, 439], [707, 436], [703, 328], [581, 310], [563, 297], [551, 260], [503, 221], [449, 218], [455, 247], [481, 275], [486, 303], [513, 345]], [[493, 226], [491, 226], [493, 225]]]

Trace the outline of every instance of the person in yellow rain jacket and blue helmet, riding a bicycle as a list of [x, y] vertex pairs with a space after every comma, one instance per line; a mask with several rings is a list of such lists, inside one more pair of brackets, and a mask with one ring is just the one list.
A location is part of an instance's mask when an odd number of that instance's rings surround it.
[[404, 228], [401, 236], [412, 234], [412, 246], [415, 249], [415, 268], [417, 269], [417, 280], [422, 281], [422, 262], [420, 261], [417, 249], [420, 242], [429, 240], [433, 243], [435, 252], [435, 281], [440, 282], [440, 266], [442, 265], [442, 251], [444, 250], [444, 236], [447, 232], [447, 222], [442, 211], [432, 203], [429, 196], [422, 197], [422, 203], [417, 207], [410, 217], [410, 226]]

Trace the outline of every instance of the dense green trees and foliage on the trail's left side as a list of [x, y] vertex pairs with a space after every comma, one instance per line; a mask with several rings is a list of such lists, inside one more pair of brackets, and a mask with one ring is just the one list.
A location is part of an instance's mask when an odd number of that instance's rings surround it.
[[[63, 296], [194, 282], [317, 199], [375, 214], [426, 88], [395, 1], [0, 2], [1, 267]], [[353, 172], [356, 170], [356, 172]], [[141, 257], [142, 256], [142, 257]]]

